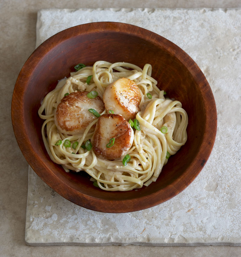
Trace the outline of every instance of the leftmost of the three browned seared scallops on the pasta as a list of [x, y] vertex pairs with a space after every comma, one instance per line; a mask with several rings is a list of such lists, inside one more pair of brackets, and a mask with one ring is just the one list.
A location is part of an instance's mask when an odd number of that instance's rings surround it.
[[[55, 125], [67, 135], [82, 134], [90, 122], [97, 119], [89, 109], [102, 113], [105, 109], [102, 99], [87, 97], [89, 92], [73, 92], [62, 98], [55, 112]], [[90, 131], [93, 131], [94, 127]]]

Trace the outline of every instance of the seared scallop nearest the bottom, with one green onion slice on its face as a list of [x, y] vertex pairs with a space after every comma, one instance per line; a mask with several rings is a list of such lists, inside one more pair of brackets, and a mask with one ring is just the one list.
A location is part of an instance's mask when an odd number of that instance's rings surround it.
[[92, 149], [97, 156], [114, 160], [126, 154], [133, 139], [133, 129], [121, 115], [103, 114], [95, 126], [91, 139]]

